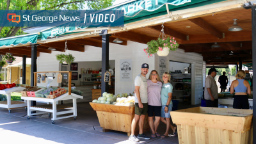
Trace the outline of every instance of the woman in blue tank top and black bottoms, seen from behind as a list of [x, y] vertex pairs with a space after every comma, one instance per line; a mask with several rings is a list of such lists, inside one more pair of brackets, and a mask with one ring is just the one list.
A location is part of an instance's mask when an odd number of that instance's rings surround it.
[[244, 81], [245, 76], [244, 70], [238, 70], [236, 74], [237, 79], [232, 81], [230, 86], [230, 93], [233, 94], [235, 92], [234, 109], [249, 109], [248, 95], [251, 94], [251, 88], [249, 82]]

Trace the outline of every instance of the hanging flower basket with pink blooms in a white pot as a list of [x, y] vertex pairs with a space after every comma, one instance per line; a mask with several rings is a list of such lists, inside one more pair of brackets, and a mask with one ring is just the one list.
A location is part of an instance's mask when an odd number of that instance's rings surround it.
[[147, 43], [147, 49], [144, 49], [148, 58], [153, 54], [158, 54], [158, 56], [167, 56], [170, 51], [176, 51], [179, 44], [176, 42], [175, 38], [158, 38], [157, 40], [151, 40]]

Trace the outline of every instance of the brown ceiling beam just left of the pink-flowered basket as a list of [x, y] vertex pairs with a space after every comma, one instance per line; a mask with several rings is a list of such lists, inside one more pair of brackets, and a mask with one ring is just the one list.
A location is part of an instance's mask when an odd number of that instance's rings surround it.
[[141, 44], [147, 44], [147, 42], [150, 42], [151, 40], [154, 40], [154, 37], [142, 35], [140, 33], [134, 33], [132, 31], [125, 31], [122, 33], [115, 33], [115, 35], [112, 35], [115, 38], [121, 38], [122, 40], [131, 40], [133, 42], [138, 42]]

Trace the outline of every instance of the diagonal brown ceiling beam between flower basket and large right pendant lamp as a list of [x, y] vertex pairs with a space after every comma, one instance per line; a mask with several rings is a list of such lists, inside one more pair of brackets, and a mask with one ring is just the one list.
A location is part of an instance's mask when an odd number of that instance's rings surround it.
[[201, 28], [205, 29], [206, 31], [208, 31], [212, 35], [216, 36], [217, 38], [223, 38], [223, 33], [221, 33], [221, 31], [214, 28], [214, 26], [212, 26], [211, 24], [206, 22], [201, 17], [198, 17], [198, 18], [195, 18], [195, 19], [189, 19], [189, 20], [191, 22], [193, 22], [194, 24], [196, 24], [197, 26], [200, 26]]

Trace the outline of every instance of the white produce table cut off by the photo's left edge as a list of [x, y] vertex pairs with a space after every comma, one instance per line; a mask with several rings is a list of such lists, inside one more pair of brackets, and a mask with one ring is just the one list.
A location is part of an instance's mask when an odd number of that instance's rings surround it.
[[24, 100], [24, 102], [11, 100], [11, 92], [22, 91], [24, 89], [25, 88], [23, 87], [13, 87], [0, 90], [0, 94], [7, 95], [7, 101], [0, 101], [0, 108], [7, 108], [9, 110], [9, 113], [11, 113], [11, 109], [13, 108], [26, 107], [26, 100]]

